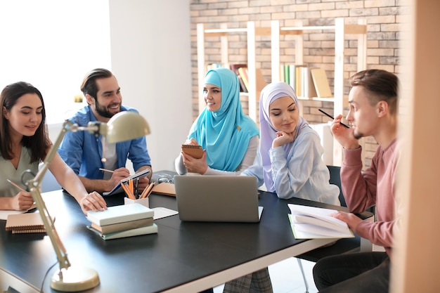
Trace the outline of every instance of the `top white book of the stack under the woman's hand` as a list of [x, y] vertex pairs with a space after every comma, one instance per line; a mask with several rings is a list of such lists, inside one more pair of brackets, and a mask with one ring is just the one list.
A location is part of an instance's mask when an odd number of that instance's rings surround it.
[[122, 204], [104, 211], [88, 211], [86, 218], [98, 226], [153, 218], [154, 211], [142, 204]]

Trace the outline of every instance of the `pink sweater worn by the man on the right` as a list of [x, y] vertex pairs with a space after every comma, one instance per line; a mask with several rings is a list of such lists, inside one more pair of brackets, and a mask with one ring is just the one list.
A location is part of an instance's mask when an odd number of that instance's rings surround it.
[[399, 152], [394, 140], [386, 149], [381, 147], [371, 162], [371, 167], [361, 173], [361, 148], [344, 150], [341, 169], [342, 192], [349, 210], [361, 213], [376, 206], [377, 221], [362, 221], [354, 232], [375, 245], [385, 247], [389, 256], [393, 244], [395, 224], [396, 164]]

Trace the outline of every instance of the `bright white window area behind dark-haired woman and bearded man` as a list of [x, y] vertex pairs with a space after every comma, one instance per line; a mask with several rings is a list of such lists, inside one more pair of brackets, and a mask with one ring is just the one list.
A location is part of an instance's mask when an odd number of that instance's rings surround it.
[[108, 0], [0, 1], [0, 90], [29, 82], [44, 97], [48, 123], [77, 110], [84, 74], [110, 67]]

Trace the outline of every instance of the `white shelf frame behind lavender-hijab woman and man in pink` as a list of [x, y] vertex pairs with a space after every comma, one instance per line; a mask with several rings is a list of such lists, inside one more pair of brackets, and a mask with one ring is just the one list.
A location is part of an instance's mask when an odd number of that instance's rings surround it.
[[[280, 35], [292, 34], [295, 39], [295, 63], [304, 64], [304, 34], [316, 30], [332, 30], [335, 32], [335, 76], [333, 98], [302, 97], [304, 100], [324, 100], [334, 103], [333, 116], [344, 113], [344, 42], [347, 34], [358, 36], [357, 71], [367, 67], [367, 25], [365, 19], [358, 20], [358, 24], [346, 24], [344, 18], [336, 18], [335, 25], [303, 26], [301, 21], [296, 21], [293, 27], [280, 27], [278, 20], [271, 21], [271, 71], [272, 82], [280, 81]], [[363, 139], [359, 141], [363, 146]], [[363, 152], [364, 155], [365, 152]], [[365, 157], [362, 158], [364, 162]], [[342, 163], [342, 147], [333, 143], [333, 164], [340, 166]]]

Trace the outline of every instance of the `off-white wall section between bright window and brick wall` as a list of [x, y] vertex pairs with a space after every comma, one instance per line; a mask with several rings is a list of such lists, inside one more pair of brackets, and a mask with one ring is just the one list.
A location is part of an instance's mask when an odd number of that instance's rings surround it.
[[174, 170], [191, 117], [189, 0], [109, 0], [112, 72], [148, 120], [153, 170]]

